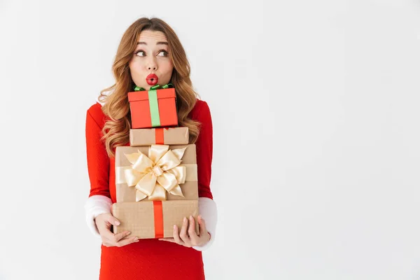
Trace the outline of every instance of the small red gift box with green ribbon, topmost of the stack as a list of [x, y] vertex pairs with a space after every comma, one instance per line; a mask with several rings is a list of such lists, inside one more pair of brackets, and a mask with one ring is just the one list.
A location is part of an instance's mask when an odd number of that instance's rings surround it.
[[153, 85], [148, 91], [135, 87], [134, 92], [128, 92], [128, 102], [133, 129], [178, 125], [176, 92], [170, 83]]

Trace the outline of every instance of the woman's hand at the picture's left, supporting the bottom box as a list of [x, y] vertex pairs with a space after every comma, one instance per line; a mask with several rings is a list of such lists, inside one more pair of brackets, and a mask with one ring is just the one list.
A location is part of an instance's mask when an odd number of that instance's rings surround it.
[[111, 232], [111, 225], [120, 225], [120, 221], [110, 213], [98, 215], [94, 219], [94, 223], [96, 223], [99, 235], [101, 235], [102, 244], [106, 247], [121, 247], [139, 241], [139, 238], [137, 237], [126, 238], [131, 233], [128, 231], [120, 232], [118, 234]]

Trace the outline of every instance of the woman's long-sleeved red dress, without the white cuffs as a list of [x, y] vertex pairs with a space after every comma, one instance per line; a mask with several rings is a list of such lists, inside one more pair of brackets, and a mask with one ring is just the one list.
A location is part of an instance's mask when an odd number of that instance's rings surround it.
[[[109, 158], [100, 141], [106, 116], [101, 104], [87, 110], [86, 151], [90, 178], [90, 196], [105, 195], [116, 202], [115, 159]], [[213, 127], [209, 106], [197, 99], [188, 115], [202, 123], [195, 143], [197, 149], [198, 191], [200, 197], [213, 199], [210, 190], [211, 160], [213, 154]], [[126, 144], [129, 146], [130, 144]], [[115, 152], [115, 149], [114, 149]], [[202, 252], [158, 239], [139, 239], [123, 247], [101, 246], [99, 279], [204, 279]]]

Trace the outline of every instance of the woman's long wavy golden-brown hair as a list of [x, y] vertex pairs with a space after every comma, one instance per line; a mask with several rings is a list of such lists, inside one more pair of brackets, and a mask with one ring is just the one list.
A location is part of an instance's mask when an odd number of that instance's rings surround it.
[[[133, 91], [134, 82], [131, 78], [129, 62], [143, 30], [162, 31], [167, 37], [169, 57], [174, 64], [169, 83], [174, 85], [176, 91], [179, 126], [189, 128], [190, 144], [195, 143], [200, 132], [200, 123], [187, 117], [193, 110], [199, 94], [193, 90], [190, 80], [190, 63], [178, 36], [166, 22], [159, 18], [140, 18], [128, 27], [118, 46], [112, 66], [116, 83], [102, 90], [98, 98], [104, 103], [102, 111], [109, 117], [102, 129], [102, 141], [105, 143], [106, 153], [110, 158], [115, 156], [113, 150], [116, 146], [123, 146], [130, 141], [131, 113], [127, 92]], [[112, 93], [104, 94], [109, 91]]]

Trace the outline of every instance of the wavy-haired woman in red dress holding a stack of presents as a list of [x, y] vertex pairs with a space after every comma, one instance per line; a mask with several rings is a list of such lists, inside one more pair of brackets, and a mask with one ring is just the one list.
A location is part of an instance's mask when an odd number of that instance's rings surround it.
[[[201, 251], [214, 241], [217, 223], [210, 190], [213, 128], [209, 106], [193, 90], [183, 46], [162, 20], [140, 18], [120, 41], [113, 74], [116, 83], [102, 90], [99, 102], [86, 115], [90, 195], [85, 211], [87, 224], [102, 239], [99, 279], [204, 279]], [[120, 223], [110, 210], [116, 202], [114, 156], [116, 146], [130, 145], [127, 92], [136, 86], [149, 90], [167, 83], [176, 90], [179, 126], [189, 127], [190, 144], [196, 145], [200, 234], [187, 230], [186, 217], [182, 228], [174, 227], [172, 238], [129, 238], [130, 232], [114, 235], [111, 225]]]

